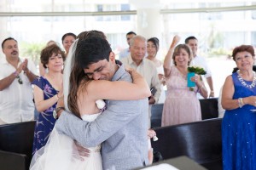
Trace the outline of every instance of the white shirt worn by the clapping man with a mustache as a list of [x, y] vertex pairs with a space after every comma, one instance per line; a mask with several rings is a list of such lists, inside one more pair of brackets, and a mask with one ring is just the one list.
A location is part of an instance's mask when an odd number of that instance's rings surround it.
[[[19, 65], [21, 63], [21, 59]], [[35, 75], [36, 66], [28, 60], [27, 68]], [[9, 77], [16, 71], [13, 65], [3, 58], [0, 59], [0, 80]], [[35, 105], [33, 103], [33, 92], [31, 82], [23, 71], [20, 72], [22, 84], [15, 78], [8, 88], [0, 91], [0, 120], [6, 123], [27, 122], [34, 119]]]

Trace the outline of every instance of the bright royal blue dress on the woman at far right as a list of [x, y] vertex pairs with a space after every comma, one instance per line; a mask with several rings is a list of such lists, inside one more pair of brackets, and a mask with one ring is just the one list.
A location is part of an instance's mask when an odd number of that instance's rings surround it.
[[[247, 88], [232, 74], [233, 99], [256, 95], [256, 87]], [[247, 85], [252, 82], [245, 81]], [[224, 170], [256, 170], [256, 112], [253, 105], [225, 111], [222, 122]]]

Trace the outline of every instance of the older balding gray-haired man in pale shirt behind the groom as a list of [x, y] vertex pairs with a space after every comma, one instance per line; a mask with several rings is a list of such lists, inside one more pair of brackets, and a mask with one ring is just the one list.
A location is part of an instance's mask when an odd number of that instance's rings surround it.
[[148, 100], [149, 104], [149, 120], [151, 116], [150, 105], [156, 104], [161, 94], [160, 81], [158, 73], [154, 63], [145, 59], [145, 54], [147, 51], [147, 41], [145, 37], [135, 36], [131, 38], [130, 43], [131, 54], [121, 59], [121, 62], [128, 67], [136, 69], [148, 82], [149, 88], [153, 89], [153, 94]]

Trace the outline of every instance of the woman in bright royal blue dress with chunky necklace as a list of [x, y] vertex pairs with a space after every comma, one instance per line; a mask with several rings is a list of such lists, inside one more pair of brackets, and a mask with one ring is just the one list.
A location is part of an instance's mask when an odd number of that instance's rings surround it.
[[227, 169], [256, 169], [256, 75], [250, 45], [234, 48], [238, 71], [224, 82], [222, 106], [223, 165]]

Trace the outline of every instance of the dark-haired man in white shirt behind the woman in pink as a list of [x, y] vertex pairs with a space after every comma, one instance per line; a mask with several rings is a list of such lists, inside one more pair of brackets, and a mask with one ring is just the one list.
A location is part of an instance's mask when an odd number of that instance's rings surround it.
[[207, 79], [207, 83], [210, 88], [210, 95], [209, 97], [214, 97], [214, 90], [213, 90], [213, 82], [212, 82], [212, 72], [207, 65], [207, 60], [201, 56], [197, 55], [197, 47], [198, 47], [198, 40], [196, 37], [187, 37], [185, 39], [185, 43], [189, 45], [192, 50], [193, 57], [191, 64], [192, 66], [199, 66], [207, 71], [207, 74], [204, 76]]

